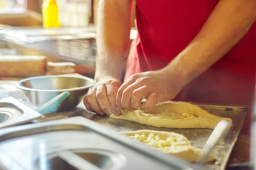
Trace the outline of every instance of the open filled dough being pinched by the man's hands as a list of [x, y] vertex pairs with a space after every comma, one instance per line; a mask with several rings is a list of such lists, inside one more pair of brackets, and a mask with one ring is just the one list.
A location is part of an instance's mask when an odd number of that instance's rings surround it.
[[148, 112], [125, 109], [120, 116], [110, 114], [111, 118], [134, 121], [139, 124], [161, 128], [210, 128], [214, 129], [222, 119], [202, 108], [186, 102], [161, 102]]

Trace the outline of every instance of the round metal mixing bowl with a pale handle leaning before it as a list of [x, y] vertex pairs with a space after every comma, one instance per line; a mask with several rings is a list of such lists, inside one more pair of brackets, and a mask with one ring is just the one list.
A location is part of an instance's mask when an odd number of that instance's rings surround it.
[[95, 81], [85, 76], [46, 75], [20, 80], [16, 87], [22, 89], [29, 101], [40, 107], [63, 91], [70, 95], [52, 108], [52, 112], [67, 111], [75, 108]]

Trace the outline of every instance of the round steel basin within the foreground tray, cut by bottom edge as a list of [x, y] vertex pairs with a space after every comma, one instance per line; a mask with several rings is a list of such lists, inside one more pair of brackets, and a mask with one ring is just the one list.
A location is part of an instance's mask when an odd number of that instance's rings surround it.
[[[72, 159], [72, 161], [76, 159], [76, 161], [74, 161], [73, 164], [68, 163], [70, 159]], [[38, 170], [44, 169], [45, 165], [47, 165], [47, 169], [51, 170], [77, 170], [81, 169], [80, 167], [87, 167], [90, 168], [90, 170], [111, 170], [120, 169], [124, 164], [126, 164], [124, 155], [99, 149], [55, 152], [47, 155], [45, 162], [40, 158], [37, 160]]]

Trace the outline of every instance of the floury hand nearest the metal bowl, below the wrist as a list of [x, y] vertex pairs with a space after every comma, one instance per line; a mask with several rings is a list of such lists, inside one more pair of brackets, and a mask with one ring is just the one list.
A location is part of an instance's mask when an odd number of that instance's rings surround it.
[[89, 89], [83, 99], [85, 107], [100, 115], [110, 115], [111, 113], [119, 115], [116, 110], [116, 97], [120, 86], [121, 82], [116, 79], [101, 79]]

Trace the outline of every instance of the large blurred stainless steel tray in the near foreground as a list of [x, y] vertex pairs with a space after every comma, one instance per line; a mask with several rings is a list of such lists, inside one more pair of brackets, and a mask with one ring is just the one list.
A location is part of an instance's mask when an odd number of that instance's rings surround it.
[[89, 119], [72, 117], [0, 130], [0, 169], [200, 170], [201, 168], [154, 148], [148, 148], [140, 142], [134, 142], [129, 137]]

